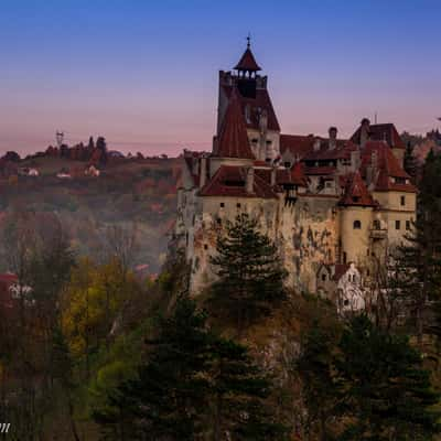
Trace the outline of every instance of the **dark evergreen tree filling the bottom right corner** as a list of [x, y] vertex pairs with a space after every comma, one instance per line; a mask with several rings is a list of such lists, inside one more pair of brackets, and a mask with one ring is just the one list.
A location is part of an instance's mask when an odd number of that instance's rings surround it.
[[344, 330], [335, 361], [341, 416], [351, 421], [340, 440], [432, 440], [439, 395], [430, 386], [421, 356], [406, 336], [355, 316]]

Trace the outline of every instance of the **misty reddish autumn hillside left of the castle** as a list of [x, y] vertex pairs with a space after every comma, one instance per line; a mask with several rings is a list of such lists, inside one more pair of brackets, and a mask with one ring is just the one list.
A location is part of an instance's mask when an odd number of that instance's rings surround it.
[[[174, 219], [179, 159], [125, 159], [101, 168], [98, 178], [86, 176], [86, 163], [72, 159], [40, 157], [17, 165], [40, 175], [0, 179], [0, 218], [14, 208], [56, 214], [79, 256], [101, 250], [106, 227], [135, 228], [136, 266], [158, 271]], [[56, 178], [63, 169], [72, 179]], [[8, 268], [1, 263], [1, 270]]]

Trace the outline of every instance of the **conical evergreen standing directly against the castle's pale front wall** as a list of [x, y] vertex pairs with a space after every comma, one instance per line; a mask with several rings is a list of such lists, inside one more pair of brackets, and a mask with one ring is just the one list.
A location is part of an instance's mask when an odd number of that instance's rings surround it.
[[239, 334], [251, 319], [269, 313], [286, 298], [286, 271], [277, 247], [247, 214], [237, 216], [234, 224], [227, 222], [211, 263], [218, 277], [211, 301], [216, 309], [236, 316]]

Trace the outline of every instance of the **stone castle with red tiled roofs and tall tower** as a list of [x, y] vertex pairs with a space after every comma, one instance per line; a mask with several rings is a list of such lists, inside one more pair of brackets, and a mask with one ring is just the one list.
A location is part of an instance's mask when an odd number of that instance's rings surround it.
[[349, 139], [335, 127], [329, 138], [281, 133], [260, 71], [248, 41], [234, 69], [219, 72], [212, 152], [183, 154], [175, 237], [192, 292], [213, 281], [216, 238], [239, 213], [275, 240], [297, 291], [327, 292], [352, 280], [347, 271], [369, 278], [416, 216], [397, 129], [364, 118]]

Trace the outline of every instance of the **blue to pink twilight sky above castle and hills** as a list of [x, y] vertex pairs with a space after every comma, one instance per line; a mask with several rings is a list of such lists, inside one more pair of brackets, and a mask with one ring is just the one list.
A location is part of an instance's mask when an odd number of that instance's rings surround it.
[[0, 154], [104, 136], [209, 150], [219, 69], [251, 35], [284, 133], [441, 117], [440, 0], [0, 0]]

